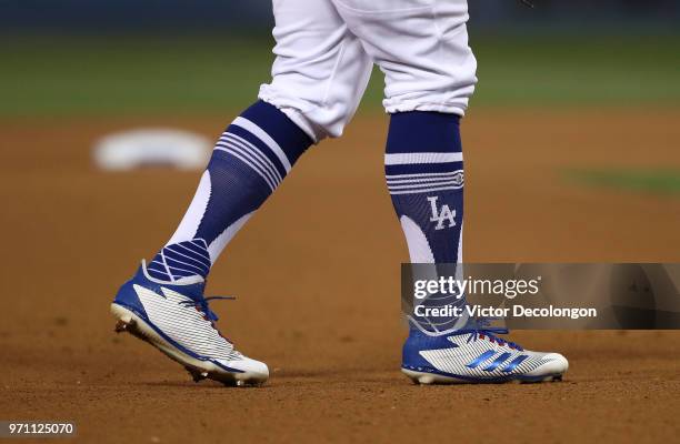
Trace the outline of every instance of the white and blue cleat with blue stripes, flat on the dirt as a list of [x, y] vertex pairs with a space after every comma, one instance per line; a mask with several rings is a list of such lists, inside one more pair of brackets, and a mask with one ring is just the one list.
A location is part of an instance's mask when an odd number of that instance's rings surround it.
[[480, 326], [432, 335], [411, 326], [401, 371], [417, 384], [562, 380], [569, 367], [564, 356], [530, 352], [496, 335], [504, 333], [504, 329]]

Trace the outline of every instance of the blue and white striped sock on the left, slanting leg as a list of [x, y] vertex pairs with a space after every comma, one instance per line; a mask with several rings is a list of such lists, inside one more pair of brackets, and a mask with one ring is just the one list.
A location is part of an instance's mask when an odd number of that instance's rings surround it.
[[312, 140], [276, 107], [258, 101], [222, 133], [189, 210], [149, 263], [164, 281], [206, 278], [227, 243], [271, 195]]

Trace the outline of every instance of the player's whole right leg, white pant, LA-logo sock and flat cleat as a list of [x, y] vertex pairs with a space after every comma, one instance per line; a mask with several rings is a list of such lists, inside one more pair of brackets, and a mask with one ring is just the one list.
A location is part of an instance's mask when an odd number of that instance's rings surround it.
[[[412, 262], [461, 262], [459, 120], [476, 84], [466, 0], [333, 0], [386, 75], [386, 174]], [[448, 297], [448, 299], [447, 299]], [[437, 305], [462, 305], [454, 295]], [[402, 370], [420, 383], [560, 379], [567, 360], [523, 350], [483, 323], [413, 317]]]

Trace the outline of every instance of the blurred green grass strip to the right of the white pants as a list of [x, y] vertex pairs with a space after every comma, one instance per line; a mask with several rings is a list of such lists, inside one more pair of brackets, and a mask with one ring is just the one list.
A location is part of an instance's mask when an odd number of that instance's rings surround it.
[[480, 104], [678, 105], [680, 39], [483, 40]]

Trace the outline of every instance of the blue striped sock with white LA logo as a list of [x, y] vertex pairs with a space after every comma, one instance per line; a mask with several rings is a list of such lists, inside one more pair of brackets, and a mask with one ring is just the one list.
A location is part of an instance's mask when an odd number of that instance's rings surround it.
[[[462, 262], [463, 162], [459, 121], [456, 114], [423, 111], [391, 117], [384, 170], [411, 263]], [[434, 295], [423, 302], [430, 307], [449, 304], [462, 307], [466, 301], [454, 295]], [[466, 322], [454, 316], [413, 316], [413, 321], [434, 333]]]

